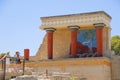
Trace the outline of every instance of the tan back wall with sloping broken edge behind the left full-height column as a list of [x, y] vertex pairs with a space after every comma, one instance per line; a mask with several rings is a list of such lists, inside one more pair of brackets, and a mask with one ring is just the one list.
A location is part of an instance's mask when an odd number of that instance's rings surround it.
[[[71, 32], [69, 29], [56, 30], [53, 33], [53, 58], [65, 58], [69, 56], [70, 51], [70, 40]], [[47, 36], [44, 37], [43, 43], [41, 44], [36, 59], [44, 60], [47, 59]]]

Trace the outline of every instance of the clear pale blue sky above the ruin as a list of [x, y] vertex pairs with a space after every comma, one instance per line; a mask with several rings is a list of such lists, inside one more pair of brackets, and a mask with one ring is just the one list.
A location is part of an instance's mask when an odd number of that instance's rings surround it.
[[40, 17], [94, 11], [108, 13], [111, 35], [120, 35], [120, 0], [0, 0], [0, 53], [35, 55], [46, 33]]

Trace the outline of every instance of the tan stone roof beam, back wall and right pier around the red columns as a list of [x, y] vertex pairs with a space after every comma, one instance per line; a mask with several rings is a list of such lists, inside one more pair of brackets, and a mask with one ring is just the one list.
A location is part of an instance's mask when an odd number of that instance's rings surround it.
[[[70, 30], [68, 26], [77, 25], [80, 30], [93, 29], [95, 23], [104, 23], [103, 29], [103, 54], [110, 52], [110, 21], [111, 17], [104, 11], [70, 14], [60, 16], [41, 17], [40, 29], [54, 28], [53, 33], [53, 59], [68, 57], [70, 51]], [[47, 35], [44, 37], [35, 59], [47, 59]]]

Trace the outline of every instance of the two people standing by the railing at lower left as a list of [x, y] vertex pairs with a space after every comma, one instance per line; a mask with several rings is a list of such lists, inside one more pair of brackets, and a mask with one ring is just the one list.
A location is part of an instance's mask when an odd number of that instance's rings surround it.
[[[7, 52], [1, 59], [2, 60], [6, 60], [6, 72], [9, 72], [9, 65], [10, 65], [10, 61], [11, 61], [11, 56], [10, 56], [10, 52]], [[21, 63], [21, 59], [22, 57], [20, 56], [20, 53], [17, 51], [14, 55], [14, 69], [17, 72], [18, 68], [19, 68], [19, 64]]]

